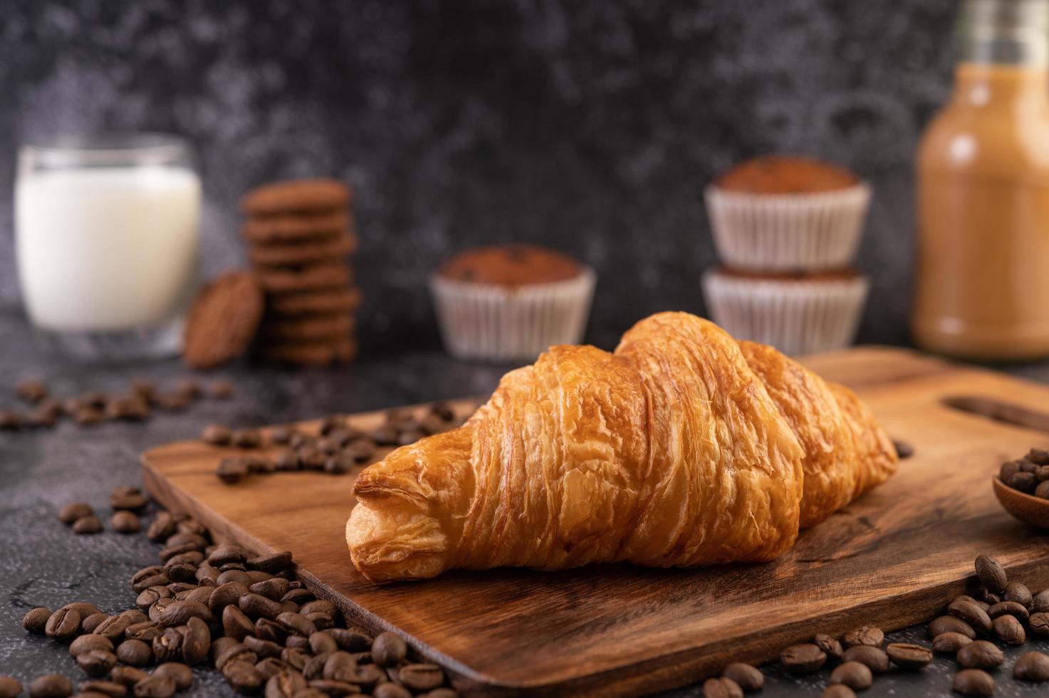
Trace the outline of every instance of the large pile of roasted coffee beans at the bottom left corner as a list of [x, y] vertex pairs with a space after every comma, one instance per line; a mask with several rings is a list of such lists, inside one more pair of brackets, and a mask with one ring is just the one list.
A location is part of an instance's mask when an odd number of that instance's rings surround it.
[[[110, 502], [125, 512], [148, 503], [134, 487], [115, 489]], [[63, 522], [71, 515], [66, 509]], [[169, 698], [191, 686], [191, 667], [213, 665], [237, 693], [265, 698], [456, 698], [444, 671], [412, 660], [399, 635], [372, 637], [347, 626], [334, 604], [296, 578], [291, 553], [252, 555], [164, 510], [146, 535], [163, 546], [160, 564], [132, 575], [132, 608], [106, 613], [73, 601], [53, 612], [31, 609], [22, 619], [27, 632], [68, 646], [85, 675], [78, 696]], [[22, 690], [0, 676], [0, 698]], [[48, 674], [28, 691], [31, 698], [65, 698], [74, 686]]]

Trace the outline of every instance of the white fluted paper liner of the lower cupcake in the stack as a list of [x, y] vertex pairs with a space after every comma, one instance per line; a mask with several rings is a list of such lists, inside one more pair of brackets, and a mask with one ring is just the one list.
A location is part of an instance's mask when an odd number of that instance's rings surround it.
[[856, 337], [870, 282], [848, 279], [761, 279], [703, 275], [710, 318], [736, 339], [801, 355], [848, 346]]

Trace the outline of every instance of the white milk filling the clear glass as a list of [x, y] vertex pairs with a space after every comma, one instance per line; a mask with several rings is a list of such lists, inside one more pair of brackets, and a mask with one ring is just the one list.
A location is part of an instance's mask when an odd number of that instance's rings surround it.
[[15, 228], [30, 319], [62, 332], [172, 318], [194, 281], [199, 217], [200, 179], [186, 169], [20, 176]]

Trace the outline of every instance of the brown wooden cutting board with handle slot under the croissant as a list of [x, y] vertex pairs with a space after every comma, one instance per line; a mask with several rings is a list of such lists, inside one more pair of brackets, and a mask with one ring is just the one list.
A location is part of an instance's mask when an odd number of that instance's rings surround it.
[[[1049, 586], [1049, 536], [1012, 520], [990, 484], [1003, 460], [1049, 446], [1049, 435], [943, 403], [977, 396], [1049, 411], [1049, 387], [894, 348], [807, 363], [856, 389], [915, 454], [766, 565], [505, 569], [376, 587], [354, 570], [343, 541], [351, 474], [223, 485], [214, 468], [229, 450], [180, 442], [145, 453], [144, 478], [167, 507], [242, 545], [292, 550], [319, 595], [374, 631], [401, 633], [467, 694], [637, 695], [694, 682], [732, 659], [774, 658], [815, 632], [902, 628], [961, 593], [980, 553], [1032, 588]], [[350, 421], [368, 428], [381, 414]]]

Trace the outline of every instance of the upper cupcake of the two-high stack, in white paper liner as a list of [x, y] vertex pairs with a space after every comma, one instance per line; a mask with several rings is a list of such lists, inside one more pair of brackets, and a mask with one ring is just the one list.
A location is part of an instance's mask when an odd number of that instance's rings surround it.
[[705, 193], [719, 256], [763, 271], [847, 267], [871, 199], [849, 170], [789, 155], [746, 161]]

